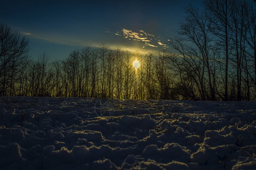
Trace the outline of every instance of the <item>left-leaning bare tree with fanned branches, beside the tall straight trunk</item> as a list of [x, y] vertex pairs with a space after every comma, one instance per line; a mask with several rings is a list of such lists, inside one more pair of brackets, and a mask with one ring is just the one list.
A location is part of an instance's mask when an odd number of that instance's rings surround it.
[[[180, 23], [180, 38], [170, 40], [172, 48], [183, 59], [183, 69], [193, 78], [201, 100], [215, 100], [212, 38], [209, 31], [207, 14], [189, 6], [187, 17]], [[179, 60], [178, 60], [179, 61]]]

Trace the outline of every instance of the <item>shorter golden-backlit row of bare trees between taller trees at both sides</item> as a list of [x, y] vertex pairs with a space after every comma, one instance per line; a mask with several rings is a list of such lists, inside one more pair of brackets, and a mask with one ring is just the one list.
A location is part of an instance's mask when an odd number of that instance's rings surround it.
[[[137, 71], [135, 58], [142, 63]], [[160, 99], [166, 73], [159, 66], [152, 53], [142, 56], [106, 45], [73, 50], [68, 58], [54, 62], [42, 54], [19, 69], [15, 83], [6, 83], [5, 95]]]

